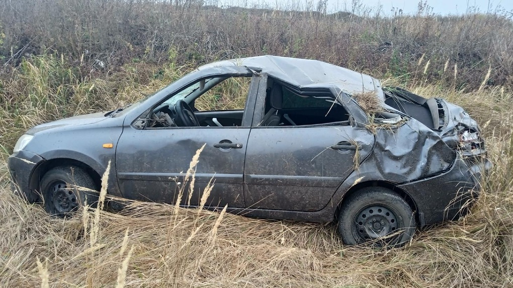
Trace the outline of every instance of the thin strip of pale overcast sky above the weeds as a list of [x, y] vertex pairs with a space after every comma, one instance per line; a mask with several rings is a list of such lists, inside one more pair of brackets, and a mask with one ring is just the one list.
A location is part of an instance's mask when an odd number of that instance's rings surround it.
[[[220, 6], [265, 6], [279, 10], [310, 6], [315, 10], [319, 0], [207, 0], [208, 2]], [[381, 11], [387, 15], [393, 14], [392, 9], [402, 9], [403, 14], [415, 14], [419, 7], [418, 0], [327, 0], [327, 12], [352, 11], [353, 2], [361, 4], [366, 10], [381, 7]], [[513, 0], [427, 0], [427, 5], [432, 8], [432, 13], [442, 15], [464, 14], [469, 9], [482, 13], [495, 12], [498, 9], [502, 12], [513, 11]]]

